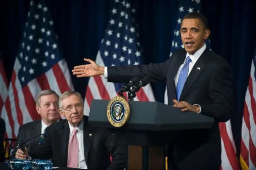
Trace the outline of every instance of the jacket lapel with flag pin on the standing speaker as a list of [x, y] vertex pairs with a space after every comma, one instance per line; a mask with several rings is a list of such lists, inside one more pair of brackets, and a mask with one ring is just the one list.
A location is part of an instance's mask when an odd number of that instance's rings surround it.
[[182, 92], [181, 92], [180, 101], [184, 98], [184, 96], [186, 95], [186, 93], [188, 92], [188, 90], [192, 86], [192, 84], [195, 82], [197, 77], [203, 72], [203, 70], [205, 68], [205, 64], [203, 62], [203, 55], [205, 54], [205, 51], [200, 56], [200, 58], [198, 58], [194, 67], [192, 68], [191, 72], [189, 73], [189, 76], [187, 77], [187, 80], [186, 80], [186, 82], [183, 86]]

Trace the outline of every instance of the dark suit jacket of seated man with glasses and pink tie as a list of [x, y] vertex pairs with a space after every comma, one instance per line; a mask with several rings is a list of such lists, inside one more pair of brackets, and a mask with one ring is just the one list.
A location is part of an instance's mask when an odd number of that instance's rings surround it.
[[[91, 134], [91, 136], [89, 135]], [[89, 170], [123, 170], [126, 166], [125, 145], [109, 129], [95, 128], [88, 124], [84, 115], [84, 154]], [[67, 120], [49, 126], [45, 142], [29, 156], [39, 159], [52, 157], [56, 167], [67, 167], [69, 124]], [[111, 153], [113, 161], [110, 162]]]

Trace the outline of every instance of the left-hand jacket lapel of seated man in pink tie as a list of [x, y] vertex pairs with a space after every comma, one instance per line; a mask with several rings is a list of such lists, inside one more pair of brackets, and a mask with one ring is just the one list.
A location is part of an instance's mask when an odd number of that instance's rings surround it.
[[[65, 120], [63, 120], [65, 121]], [[68, 150], [68, 144], [69, 144], [69, 125], [68, 122], [66, 120], [63, 128], [61, 130], [59, 130], [58, 132], [58, 137], [59, 139], [61, 139], [61, 152], [62, 152], [62, 158], [63, 158], [63, 162], [65, 162], [65, 166], [67, 166], [67, 150]]]

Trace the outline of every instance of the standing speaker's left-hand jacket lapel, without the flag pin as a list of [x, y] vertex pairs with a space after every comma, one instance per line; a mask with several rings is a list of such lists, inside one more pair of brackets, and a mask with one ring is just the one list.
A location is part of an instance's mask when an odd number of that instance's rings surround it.
[[[179, 67], [181, 66], [181, 64], [184, 62], [184, 60], [186, 58], [186, 53], [187, 52], [184, 50], [177, 55], [173, 55], [173, 62], [171, 62], [171, 67], [170, 67], [171, 68], [171, 86], [170, 86], [170, 88], [171, 88], [172, 99], [176, 99], [176, 97], [177, 97], [174, 78], [179, 70]], [[169, 101], [169, 103], [172, 103], [172, 100]]]

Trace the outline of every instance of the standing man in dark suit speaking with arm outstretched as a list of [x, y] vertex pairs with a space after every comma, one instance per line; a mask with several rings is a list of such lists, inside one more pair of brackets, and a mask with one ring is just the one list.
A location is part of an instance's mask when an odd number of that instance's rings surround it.
[[229, 120], [233, 109], [230, 66], [206, 47], [210, 30], [203, 14], [184, 16], [180, 34], [184, 49], [163, 63], [104, 68], [84, 59], [90, 64], [76, 66], [72, 72], [77, 77], [104, 75], [119, 83], [135, 76], [166, 81], [169, 105], [215, 119], [211, 129], [179, 133], [169, 145], [169, 169], [217, 170], [221, 165], [219, 122]]

